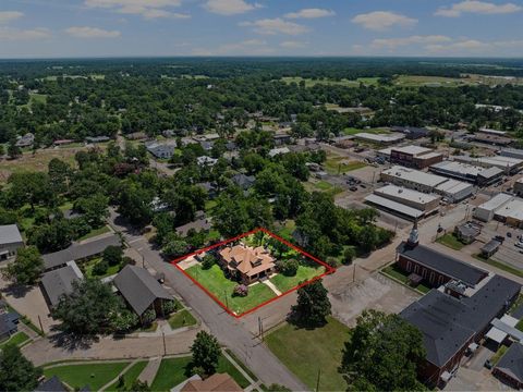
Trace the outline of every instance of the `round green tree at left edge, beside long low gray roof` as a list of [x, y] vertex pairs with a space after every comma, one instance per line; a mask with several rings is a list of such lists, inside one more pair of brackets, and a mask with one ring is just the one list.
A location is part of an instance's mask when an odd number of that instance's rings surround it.
[[34, 284], [44, 270], [44, 260], [36, 246], [20, 248], [16, 259], [4, 269], [4, 277], [19, 284]]

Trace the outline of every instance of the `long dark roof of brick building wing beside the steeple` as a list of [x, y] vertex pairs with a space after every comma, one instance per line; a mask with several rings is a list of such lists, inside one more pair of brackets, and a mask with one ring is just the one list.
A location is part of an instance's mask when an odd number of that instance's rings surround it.
[[462, 281], [470, 286], [475, 286], [487, 272], [458, 260], [454, 257], [445, 255], [424, 245], [409, 246], [405, 242], [401, 243], [398, 252], [416, 262], [426, 266], [433, 270], [439, 271], [452, 279]]

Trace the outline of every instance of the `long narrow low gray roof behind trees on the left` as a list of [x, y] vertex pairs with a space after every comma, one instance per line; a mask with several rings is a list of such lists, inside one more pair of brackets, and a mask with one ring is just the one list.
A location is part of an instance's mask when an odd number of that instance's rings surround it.
[[65, 265], [68, 261], [80, 260], [101, 254], [108, 246], [121, 246], [120, 237], [115, 234], [89, 241], [84, 244], [73, 244], [69, 248], [42, 255], [45, 269]]

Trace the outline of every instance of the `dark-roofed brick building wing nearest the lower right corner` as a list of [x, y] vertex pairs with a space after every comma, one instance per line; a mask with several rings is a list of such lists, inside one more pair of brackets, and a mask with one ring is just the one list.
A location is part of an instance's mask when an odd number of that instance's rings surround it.
[[507, 311], [520, 291], [520, 284], [494, 275], [471, 296], [457, 298], [431, 290], [401, 311], [423, 334], [427, 356], [421, 378], [429, 385], [448, 382], [465, 353], [477, 347], [490, 322]]

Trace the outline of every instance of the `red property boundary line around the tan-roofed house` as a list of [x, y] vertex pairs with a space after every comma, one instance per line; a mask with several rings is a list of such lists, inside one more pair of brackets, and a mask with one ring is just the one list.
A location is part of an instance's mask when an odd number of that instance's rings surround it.
[[[229, 243], [234, 242], [234, 241], [236, 241], [236, 240], [241, 240], [241, 238], [243, 238], [243, 237], [246, 237], [246, 236], [248, 236], [248, 235], [251, 235], [251, 234], [255, 234], [255, 233], [260, 232], [260, 231], [264, 232], [264, 233], [266, 233], [266, 234], [268, 234], [268, 235], [270, 235], [272, 238], [278, 240], [279, 242], [285, 244], [287, 246], [291, 247], [292, 249], [297, 250], [297, 252], [301, 253], [303, 256], [308, 257], [311, 260], [313, 260], [313, 261], [315, 261], [315, 262], [324, 266], [324, 267], [325, 267], [325, 272], [321, 273], [321, 274], [319, 274], [319, 275], [317, 275], [317, 277], [314, 277], [313, 279], [309, 279], [308, 281], [305, 281], [305, 282], [303, 282], [303, 283], [301, 283], [301, 284], [299, 284], [299, 285], [296, 285], [296, 286], [294, 286], [294, 287], [292, 287], [292, 289], [290, 289], [290, 290], [288, 290], [288, 291], [285, 291], [285, 292], [283, 292], [283, 293], [281, 293], [281, 295], [278, 295], [278, 296], [276, 296], [276, 297], [273, 297], [273, 298], [270, 298], [270, 299], [268, 299], [268, 301], [266, 301], [266, 302], [264, 302], [264, 303], [262, 303], [262, 304], [259, 304], [259, 305], [256, 305], [256, 306], [253, 307], [252, 309], [245, 310], [244, 313], [242, 313], [242, 314], [240, 314], [240, 315], [236, 315], [234, 311], [232, 311], [231, 309], [229, 309], [220, 299], [218, 299], [218, 297], [217, 297], [215, 294], [212, 294], [212, 293], [211, 293], [209, 290], [207, 290], [202, 283], [199, 283], [196, 279], [194, 279], [193, 277], [191, 277], [187, 272], [185, 272], [185, 271], [178, 265], [180, 261], [183, 261], [183, 260], [185, 260], [185, 259], [188, 258], [188, 257], [192, 257], [192, 256], [195, 256], [195, 255], [199, 255], [199, 254], [202, 254], [202, 253], [204, 253], [204, 252], [207, 252], [207, 250], [214, 249], [214, 248], [216, 248], [216, 247], [219, 247], [219, 246], [229, 244]], [[268, 305], [268, 304], [270, 304], [270, 303], [272, 303], [272, 302], [281, 298], [282, 296], [288, 295], [288, 294], [296, 291], [297, 289], [301, 289], [301, 287], [303, 287], [303, 286], [305, 286], [305, 285], [307, 285], [307, 284], [311, 284], [311, 283], [313, 283], [313, 282], [315, 282], [315, 281], [317, 281], [317, 280], [319, 280], [319, 279], [321, 279], [321, 278], [324, 278], [324, 277], [326, 277], [326, 275], [328, 275], [328, 274], [331, 274], [331, 273], [336, 272], [336, 268], [330, 267], [330, 266], [327, 265], [326, 262], [324, 262], [324, 261], [321, 261], [320, 259], [318, 259], [318, 258], [309, 255], [308, 253], [306, 253], [306, 252], [303, 250], [302, 248], [299, 248], [297, 246], [291, 244], [289, 241], [280, 237], [279, 235], [276, 235], [275, 233], [268, 231], [268, 230], [265, 229], [265, 228], [254, 229], [254, 230], [252, 230], [252, 231], [250, 231], [250, 232], [240, 234], [240, 235], [238, 235], [238, 236], [235, 236], [235, 237], [232, 237], [232, 238], [229, 238], [229, 240], [219, 242], [219, 243], [217, 243], [217, 244], [214, 244], [214, 245], [207, 246], [207, 247], [205, 247], [205, 248], [198, 249], [198, 250], [196, 250], [196, 252], [193, 252], [193, 253], [191, 253], [191, 254], [188, 254], [188, 255], [185, 255], [185, 256], [175, 258], [174, 260], [171, 261], [171, 265], [173, 265], [174, 267], [177, 267], [185, 277], [187, 277], [188, 279], [191, 279], [194, 284], [196, 284], [199, 289], [202, 289], [202, 290], [203, 290], [208, 296], [210, 296], [218, 305], [220, 305], [229, 315], [231, 315], [232, 317], [235, 317], [235, 318], [241, 318], [241, 317], [243, 317], [243, 316], [246, 316], [246, 315], [248, 315], [248, 314], [251, 314], [251, 313], [259, 309], [260, 307], [263, 307], [263, 306], [265, 306], [265, 305]]]

